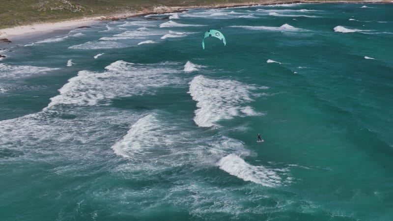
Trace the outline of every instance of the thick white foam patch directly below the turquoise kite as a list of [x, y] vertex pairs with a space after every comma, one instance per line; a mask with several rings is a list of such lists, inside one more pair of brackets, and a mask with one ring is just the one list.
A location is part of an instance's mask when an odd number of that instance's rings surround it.
[[190, 82], [189, 92], [197, 101], [194, 121], [200, 127], [211, 127], [222, 119], [235, 116], [257, 115], [244, 104], [253, 101], [253, 85], [232, 80], [214, 80], [199, 75]]

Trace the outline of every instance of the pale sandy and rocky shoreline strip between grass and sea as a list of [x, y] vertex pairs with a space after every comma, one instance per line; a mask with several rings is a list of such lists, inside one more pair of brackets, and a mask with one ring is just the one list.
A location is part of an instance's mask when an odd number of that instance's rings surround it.
[[137, 12], [124, 12], [124, 13], [113, 13], [108, 16], [91, 16], [85, 17], [82, 19], [70, 19], [67, 21], [59, 21], [53, 23], [36, 23], [25, 26], [16, 26], [13, 28], [3, 28], [0, 29], [0, 43], [11, 43], [12, 41], [18, 41], [21, 39], [29, 39], [35, 38], [38, 36], [43, 36], [50, 34], [54, 31], [59, 30], [73, 30], [76, 28], [85, 28], [86, 26], [91, 26], [94, 24], [98, 24], [100, 22], [105, 21], [116, 21], [120, 19], [127, 19], [132, 17], [139, 17], [151, 14], [165, 14], [165, 13], [176, 13], [176, 12], [184, 12], [187, 9], [195, 9], [195, 8], [226, 8], [226, 7], [241, 7], [241, 6], [258, 6], [258, 5], [279, 5], [279, 4], [294, 4], [294, 3], [393, 3], [393, 1], [387, 0], [370, 0], [370, 1], [326, 1], [320, 2], [315, 0], [310, 1], [275, 1], [275, 0], [267, 0], [264, 2], [260, 1], [250, 1], [244, 3], [225, 3], [225, 4], [216, 4], [216, 5], [200, 5], [200, 6], [189, 6], [189, 7], [168, 7], [168, 6], [159, 6], [155, 7], [152, 10], [144, 10]]

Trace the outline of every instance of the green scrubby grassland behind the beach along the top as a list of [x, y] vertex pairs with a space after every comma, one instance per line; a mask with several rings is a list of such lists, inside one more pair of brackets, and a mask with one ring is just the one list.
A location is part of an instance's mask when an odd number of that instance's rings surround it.
[[[0, 28], [54, 22], [118, 13], [151, 13], [161, 7], [220, 7], [243, 4], [273, 4], [299, 0], [0, 0]], [[302, 2], [340, 2], [302, 0]], [[347, 0], [359, 2], [362, 0]]]

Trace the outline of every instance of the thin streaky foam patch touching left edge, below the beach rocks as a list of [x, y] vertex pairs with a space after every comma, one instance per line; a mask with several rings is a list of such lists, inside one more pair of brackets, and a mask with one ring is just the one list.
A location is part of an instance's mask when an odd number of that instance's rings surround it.
[[48, 72], [53, 72], [59, 70], [60, 68], [50, 68], [50, 67], [36, 67], [29, 65], [7, 65], [0, 63], [0, 79], [20, 79], [27, 78], [34, 75], [47, 74]]

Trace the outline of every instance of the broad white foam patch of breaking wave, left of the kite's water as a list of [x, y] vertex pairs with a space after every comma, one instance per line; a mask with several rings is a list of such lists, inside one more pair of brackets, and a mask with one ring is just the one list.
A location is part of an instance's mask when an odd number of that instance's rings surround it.
[[80, 71], [59, 89], [60, 94], [51, 98], [47, 108], [57, 104], [105, 105], [115, 97], [149, 94], [153, 93], [151, 88], [179, 83], [178, 78], [170, 75], [178, 71], [166, 66], [169, 64], [143, 65], [119, 60], [101, 73]]

